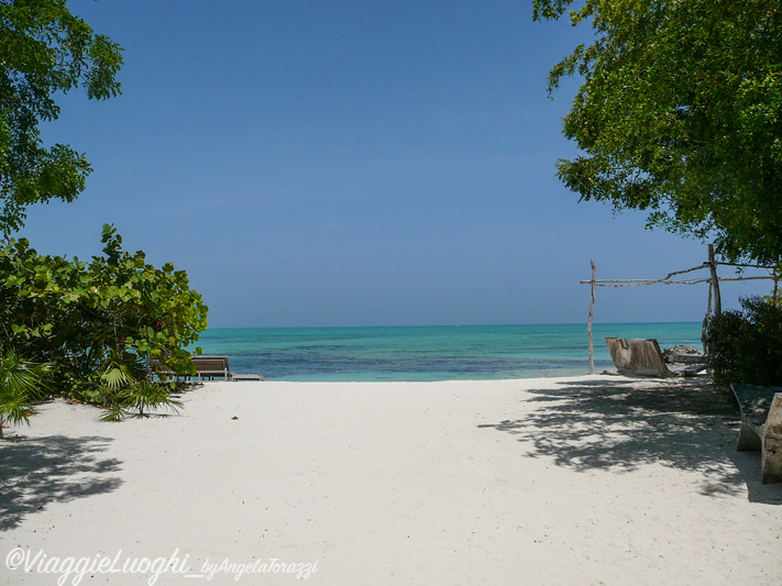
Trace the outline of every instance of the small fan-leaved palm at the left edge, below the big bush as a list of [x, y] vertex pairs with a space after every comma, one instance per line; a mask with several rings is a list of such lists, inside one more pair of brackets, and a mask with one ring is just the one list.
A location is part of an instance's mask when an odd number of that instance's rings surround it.
[[49, 364], [32, 364], [12, 349], [0, 352], [0, 440], [2, 425], [30, 423], [33, 405], [44, 399]]

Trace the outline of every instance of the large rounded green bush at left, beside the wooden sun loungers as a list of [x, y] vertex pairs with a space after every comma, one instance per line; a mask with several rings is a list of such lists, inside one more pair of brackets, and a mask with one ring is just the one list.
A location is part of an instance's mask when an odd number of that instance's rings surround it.
[[110, 225], [102, 242], [90, 263], [40, 255], [26, 240], [0, 248], [0, 346], [53, 363], [60, 392], [97, 403], [107, 402], [100, 389], [146, 380], [150, 358], [189, 373], [185, 349], [208, 310], [185, 272], [122, 251]]

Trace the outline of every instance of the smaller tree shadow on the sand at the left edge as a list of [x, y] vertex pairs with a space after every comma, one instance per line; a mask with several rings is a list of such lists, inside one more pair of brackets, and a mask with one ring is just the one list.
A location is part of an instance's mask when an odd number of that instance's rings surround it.
[[120, 461], [102, 457], [110, 438], [15, 438], [0, 443], [0, 531], [49, 502], [117, 489]]

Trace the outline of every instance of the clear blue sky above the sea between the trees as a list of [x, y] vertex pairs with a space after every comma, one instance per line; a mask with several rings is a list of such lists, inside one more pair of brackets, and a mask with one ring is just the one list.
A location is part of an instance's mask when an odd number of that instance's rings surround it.
[[[210, 327], [585, 322], [598, 278], [661, 277], [706, 247], [576, 203], [554, 178], [588, 38], [531, 2], [69, 2], [124, 47], [123, 95], [62, 100], [47, 144], [95, 167], [30, 209], [40, 252], [81, 258], [113, 223], [173, 262]], [[769, 285], [726, 287], [738, 295]], [[599, 289], [601, 322], [698, 321], [706, 286]]]

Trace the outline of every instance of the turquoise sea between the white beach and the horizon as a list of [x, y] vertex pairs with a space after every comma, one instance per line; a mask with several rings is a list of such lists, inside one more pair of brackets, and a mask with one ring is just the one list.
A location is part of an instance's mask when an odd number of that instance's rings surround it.
[[[701, 323], [604, 323], [593, 335], [597, 373], [614, 367], [606, 336], [701, 347]], [[233, 372], [266, 380], [487, 380], [590, 371], [585, 324], [210, 329], [197, 345], [228, 355]]]

